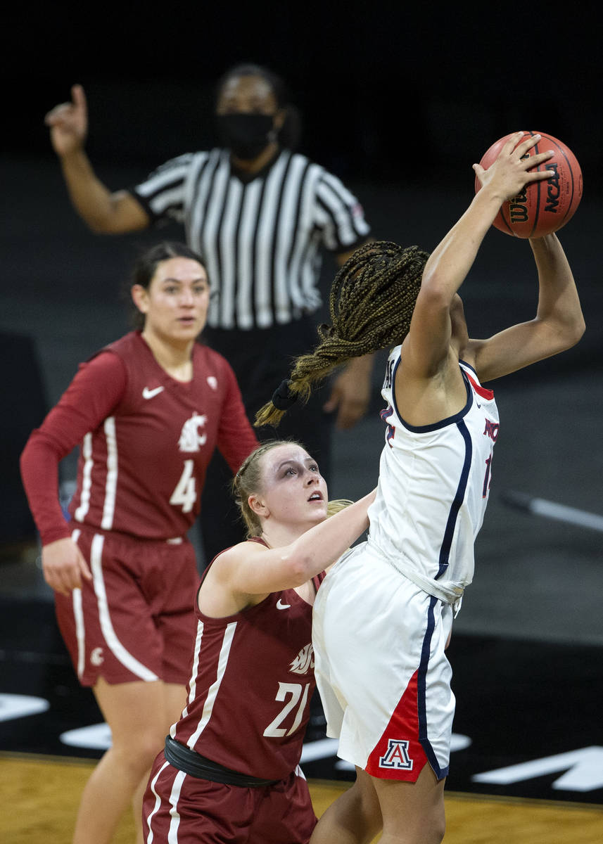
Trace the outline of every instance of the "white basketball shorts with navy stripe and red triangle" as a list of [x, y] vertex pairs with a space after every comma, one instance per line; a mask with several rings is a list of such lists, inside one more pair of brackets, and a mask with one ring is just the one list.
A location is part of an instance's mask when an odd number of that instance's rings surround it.
[[444, 653], [453, 610], [361, 544], [314, 603], [314, 670], [341, 759], [380, 779], [448, 774], [454, 717]]

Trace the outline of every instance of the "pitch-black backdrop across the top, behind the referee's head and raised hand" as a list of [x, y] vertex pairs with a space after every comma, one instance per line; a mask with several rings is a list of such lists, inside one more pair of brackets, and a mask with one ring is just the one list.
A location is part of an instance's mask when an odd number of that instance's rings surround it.
[[341, 176], [466, 177], [519, 127], [562, 138], [591, 195], [600, 183], [600, 31], [587, 4], [62, 3], [9, 12], [5, 35], [11, 154], [47, 154], [40, 118], [73, 82], [90, 91], [97, 163], [203, 149], [215, 80], [253, 61], [285, 77], [303, 148]]

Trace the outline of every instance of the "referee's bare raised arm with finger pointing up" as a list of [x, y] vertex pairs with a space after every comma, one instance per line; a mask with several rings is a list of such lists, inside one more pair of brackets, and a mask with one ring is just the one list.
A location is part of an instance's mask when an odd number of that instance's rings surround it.
[[46, 114], [52, 147], [73, 207], [90, 229], [102, 234], [122, 234], [144, 229], [149, 217], [128, 192], [111, 192], [95, 175], [84, 151], [88, 133], [88, 109], [84, 89], [73, 85], [71, 102], [61, 103]]

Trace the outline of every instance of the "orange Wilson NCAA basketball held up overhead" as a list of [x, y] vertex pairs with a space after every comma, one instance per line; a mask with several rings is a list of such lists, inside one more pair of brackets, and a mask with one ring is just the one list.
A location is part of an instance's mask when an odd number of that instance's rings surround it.
[[[565, 143], [552, 135], [540, 132], [524, 132], [523, 138], [540, 134], [542, 139], [529, 149], [528, 155], [554, 149], [555, 154], [548, 161], [538, 165], [538, 170], [554, 170], [555, 175], [542, 181], [526, 185], [518, 196], [502, 203], [494, 220], [497, 229], [515, 237], [541, 237], [557, 231], [572, 219], [582, 199], [582, 170], [576, 156]], [[496, 160], [502, 147], [511, 135], [505, 135], [487, 150], [480, 161], [484, 170]], [[481, 188], [475, 176], [475, 193]]]

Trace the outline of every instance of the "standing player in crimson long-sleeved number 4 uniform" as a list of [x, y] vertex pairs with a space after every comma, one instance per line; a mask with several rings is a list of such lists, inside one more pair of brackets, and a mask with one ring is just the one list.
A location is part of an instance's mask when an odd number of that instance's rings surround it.
[[[111, 841], [182, 710], [198, 570], [186, 533], [217, 447], [235, 473], [258, 445], [230, 365], [198, 344], [209, 280], [178, 243], [140, 258], [142, 329], [80, 366], [30, 436], [21, 472], [42, 567], [79, 680], [92, 686], [112, 746], [84, 789], [73, 841]], [[58, 463], [80, 444], [69, 522]], [[135, 796], [136, 795], [136, 796]]]

